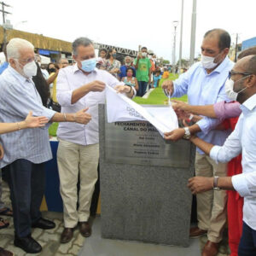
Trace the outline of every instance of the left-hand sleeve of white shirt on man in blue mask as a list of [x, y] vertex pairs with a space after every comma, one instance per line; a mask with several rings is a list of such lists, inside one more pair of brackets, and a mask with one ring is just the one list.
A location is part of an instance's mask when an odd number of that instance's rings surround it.
[[67, 75], [60, 69], [57, 77], [57, 100], [62, 107], [72, 106], [73, 90], [70, 88]]

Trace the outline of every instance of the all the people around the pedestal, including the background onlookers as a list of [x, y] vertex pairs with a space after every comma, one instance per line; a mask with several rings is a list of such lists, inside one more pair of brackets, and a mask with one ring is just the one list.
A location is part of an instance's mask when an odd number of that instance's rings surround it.
[[[228, 57], [229, 49], [228, 32], [206, 32], [201, 61], [172, 81], [167, 70], [161, 73], [157, 68], [154, 55], [148, 58], [146, 47], [134, 60], [125, 56], [121, 65], [115, 49], [102, 49], [97, 58], [90, 39], [78, 38], [73, 42], [75, 64], [68, 65], [65, 59], [58, 66], [49, 63], [48, 77], [41, 71], [33, 45], [11, 39], [8, 63], [0, 67], [1, 72], [4, 69], [0, 75], [0, 167], [9, 183], [13, 210], [1, 203], [0, 215], [13, 215], [15, 246], [38, 253], [42, 247], [32, 238], [32, 228], [55, 227], [39, 211], [44, 163], [52, 157], [49, 124], [60, 122], [57, 163], [64, 208], [60, 239], [67, 243], [77, 226], [82, 236], [91, 235], [88, 219], [99, 159], [97, 108], [105, 102], [106, 84], [132, 98], [143, 96], [148, 84], [158, 87], [164, 77], [166, 96], [188, 95], [189, 99], [189, 104], [173, 104], [183, 127], [166, 132], [165, 139], [189, 139], [197, 147], [195, 177], [189, 179], [188, 187], [196, 194], [198, 226], [190, 229], [190, 237], [207, 234], [201, 255], [217, 255], [228, 217], [230, 256], [256, 255], [256, 49], [243, 51], [236, 64]], [[47, 108], [49, 84], [53, 84], [55, 109]], [[1, 218], [0, 228], [7, 226]], [[11, 255], [3, 248], [2, 252]]]

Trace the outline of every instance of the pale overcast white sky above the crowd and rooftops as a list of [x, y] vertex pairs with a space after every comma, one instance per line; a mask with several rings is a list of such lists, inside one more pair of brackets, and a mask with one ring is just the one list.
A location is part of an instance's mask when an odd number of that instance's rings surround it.
[[[147, 46], [172, 63], [173, 20], [178, 20], [176, 61], [179, 56], [182, 0], [2, 0], [15, 29], [73, 42], [88, 37], [97, 43], [127, 49]], [[255, 0], [197, 0], [195, 56], [205, 32], [223, 28], [235, 44], [256, 37]], [[193, 0], [184, 0], [182, 57], [189, 59]], [[26, 21], [26, 22], [23, 22]], [[0, 24], [3, 20], [0, 16]]]

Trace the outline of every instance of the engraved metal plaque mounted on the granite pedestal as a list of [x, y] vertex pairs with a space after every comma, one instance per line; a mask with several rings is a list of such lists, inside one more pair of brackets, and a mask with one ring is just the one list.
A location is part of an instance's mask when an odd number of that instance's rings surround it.
[[[190, 143], [167, 142], [146, 121], [105, 124], [105, 158], [112, 163], [150, 166], [189, 166]], [[181, 154], [182, 153], [182, 154]]]

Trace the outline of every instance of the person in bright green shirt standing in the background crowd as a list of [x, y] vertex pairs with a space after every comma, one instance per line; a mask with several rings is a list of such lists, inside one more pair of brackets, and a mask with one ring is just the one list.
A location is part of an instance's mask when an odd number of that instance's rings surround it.
[[148, 59], [148, 49], [143, 47], [142, 51], [139, 52], [137, 58], [133, 62], [136, 68], [136, 78], [139, 84], [139, 90], [137, 96], [143, 96], [146, 93], [148, 84], [151, 83], [151, 63]]

